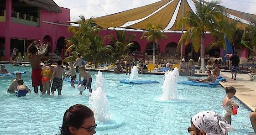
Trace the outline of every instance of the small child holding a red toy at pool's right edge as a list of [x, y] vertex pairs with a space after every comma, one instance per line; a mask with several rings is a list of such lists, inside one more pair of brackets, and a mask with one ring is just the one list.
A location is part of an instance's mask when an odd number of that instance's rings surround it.
[[226, 87], [225, 89], [226, 89], [227, 95], [222, 100], [222, 107], [223, 107], [222, 116], [231, 124], [232, 106], [234, 106], [237, 109], [239, 108], [239, 106], [235, 104], [234, 101], [231, 100], [235, 96], [235, 92], [236, 92], [235, 88], [230, 86], [230, 87]]

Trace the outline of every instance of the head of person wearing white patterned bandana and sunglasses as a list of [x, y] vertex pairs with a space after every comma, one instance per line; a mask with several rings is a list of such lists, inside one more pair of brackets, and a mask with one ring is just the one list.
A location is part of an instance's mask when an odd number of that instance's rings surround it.
[[219, 114], [213, 111], [203, 111], [191, 119], [188, 133], [191, 135], [227, 135], [233, 127]]

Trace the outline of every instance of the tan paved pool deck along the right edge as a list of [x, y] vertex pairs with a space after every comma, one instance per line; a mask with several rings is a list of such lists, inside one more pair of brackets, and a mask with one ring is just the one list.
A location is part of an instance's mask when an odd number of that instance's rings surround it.
[[220, 72], [220, 75], [227, 79], [226, 82], [219, 82], [224, 88], [233, 86], [236, 89], [235, 97], [244, 103], [252, 111], [256, 108], [256, 82], [250, 81], [248, 74], [237, 74], [236, 80], [231, 79], [231, 73]]

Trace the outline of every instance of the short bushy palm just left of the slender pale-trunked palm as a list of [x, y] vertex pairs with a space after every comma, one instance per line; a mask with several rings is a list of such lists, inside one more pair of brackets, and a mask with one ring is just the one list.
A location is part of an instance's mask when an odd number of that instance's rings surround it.
[[115, 39], [113, 35], [106, 36], [106, 38], [109, 38], [113, 43], [112, 45], [107, 45], [106, 47], [112, 50], [112, 55], [115, 57], [115, 59], [124, 58], [125, 55], [130, 52], [130, 48], [134, 45], [134, 42], [131, 42], [131, 39], [134, 38], [136, 35], [131, 34], [129, 36], [126, 36], [125, 30], [122, 32], [115, 30], [115, 35], [117, 39]]

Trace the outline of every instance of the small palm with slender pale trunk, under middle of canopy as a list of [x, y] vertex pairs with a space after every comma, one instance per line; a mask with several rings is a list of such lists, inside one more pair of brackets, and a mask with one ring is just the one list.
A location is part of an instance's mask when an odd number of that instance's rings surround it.
[[160, 25], [154, 26], [152, 24], [148, 24], [145, 32], [143, 32], [141, 39], [146, 38], [148, 42], [153, 42], [153, 63], [156, 62], [156, 52], [155, 47], [158, 44], [158, 41], [162, 41], [162, 39], [167, 39], [168, 37], [161, 32], [162, 27]]

